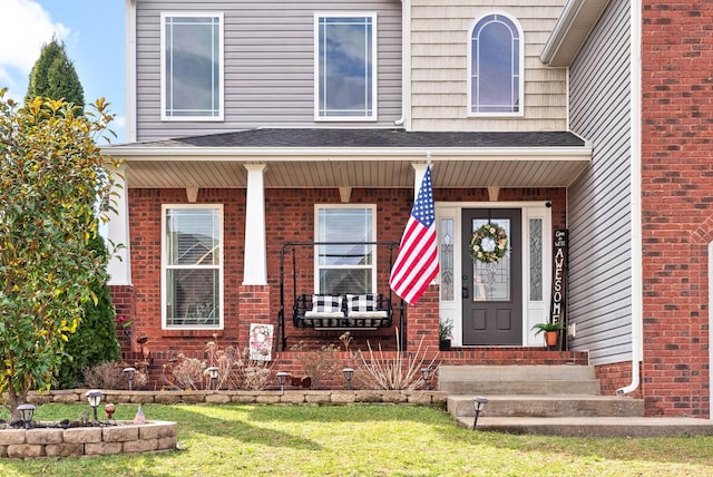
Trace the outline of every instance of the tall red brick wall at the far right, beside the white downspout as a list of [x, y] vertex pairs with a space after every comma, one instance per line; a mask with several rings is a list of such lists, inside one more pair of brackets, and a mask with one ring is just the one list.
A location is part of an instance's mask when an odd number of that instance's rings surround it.
[[643, 389], [647, 412], [707, 417], [713, 4], [643, 2]]

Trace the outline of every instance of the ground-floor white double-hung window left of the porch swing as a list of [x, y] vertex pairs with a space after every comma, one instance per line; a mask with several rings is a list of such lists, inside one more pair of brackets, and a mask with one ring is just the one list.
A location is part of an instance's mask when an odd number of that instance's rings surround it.
[[164, 329], [223, 327], [223, 206], [163, 206]]

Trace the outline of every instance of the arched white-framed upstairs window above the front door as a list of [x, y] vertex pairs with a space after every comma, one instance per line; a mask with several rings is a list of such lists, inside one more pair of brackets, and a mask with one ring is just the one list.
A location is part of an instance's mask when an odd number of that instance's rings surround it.
[[504, 13], [486, 14], [470, 32], [469, 114], [522, 115], [522, 31]]

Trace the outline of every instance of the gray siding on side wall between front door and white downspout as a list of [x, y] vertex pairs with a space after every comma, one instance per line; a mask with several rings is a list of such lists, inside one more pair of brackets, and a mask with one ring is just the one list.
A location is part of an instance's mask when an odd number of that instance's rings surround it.
[[568, 189], [569, 320], [593, 364], [631, 360], [631, 27], [613, 0], [570, 68], [572, 130], [594, 146]]

